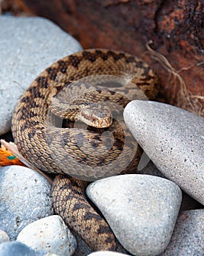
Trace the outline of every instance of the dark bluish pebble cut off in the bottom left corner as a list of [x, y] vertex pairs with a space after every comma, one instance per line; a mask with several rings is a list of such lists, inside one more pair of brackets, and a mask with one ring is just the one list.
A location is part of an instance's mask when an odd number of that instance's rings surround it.
[[26, 244], [17, 241], [0, 244], [1, 256], [42, 256], [41, 253], [36, 253]]

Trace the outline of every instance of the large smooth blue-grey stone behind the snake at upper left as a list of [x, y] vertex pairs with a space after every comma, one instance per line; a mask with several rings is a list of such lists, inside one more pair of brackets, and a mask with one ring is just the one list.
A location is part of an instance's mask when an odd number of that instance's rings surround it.
[[8, 132], [17, 99], [46, 67], [82, 50], [45, 18], [0, 16], [0, 135]]

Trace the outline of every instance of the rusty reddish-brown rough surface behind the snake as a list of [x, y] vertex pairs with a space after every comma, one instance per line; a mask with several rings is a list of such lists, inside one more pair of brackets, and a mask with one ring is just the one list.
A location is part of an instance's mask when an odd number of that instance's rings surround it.
[[[124, 50], [145, 59], [161, 81], [158, 99], [204, 116], [203, 0], [9, 1], [23, 12], [53, 20], [84, 48]], [[145, 48], [150, 39], [174, 76], [150, 58]]]

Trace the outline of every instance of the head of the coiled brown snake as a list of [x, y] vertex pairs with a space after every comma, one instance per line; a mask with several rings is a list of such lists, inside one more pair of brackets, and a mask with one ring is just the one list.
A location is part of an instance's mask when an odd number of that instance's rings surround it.
[[106, 128], [112, 124], [111, 109], [100, 103], [91, 103], [82, 108], [77, 116], [79, 121], [95, 128]]

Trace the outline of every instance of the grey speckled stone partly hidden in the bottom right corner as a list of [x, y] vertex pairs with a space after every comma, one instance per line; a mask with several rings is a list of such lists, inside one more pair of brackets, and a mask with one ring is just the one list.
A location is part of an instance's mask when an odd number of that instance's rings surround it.
[[160, 256], [204, 255], [204, 209], [184, 211], [178, 216], [173, 236]]

